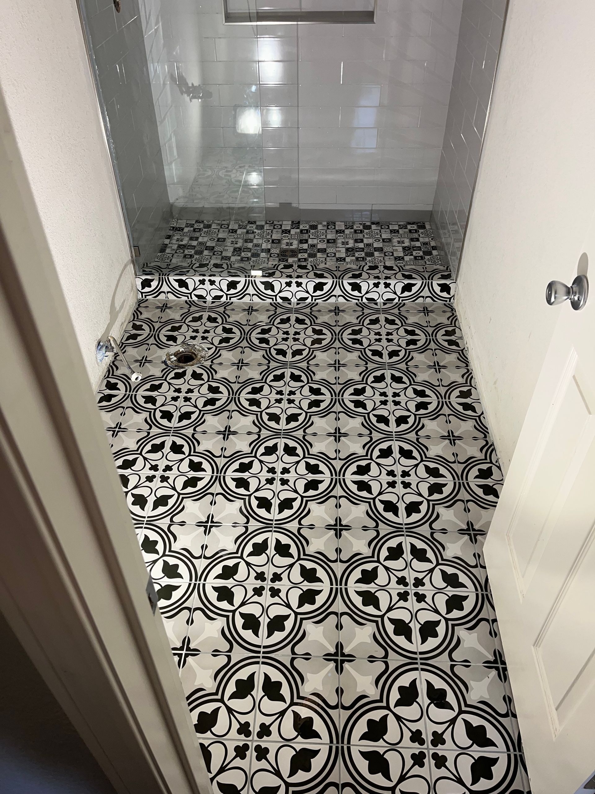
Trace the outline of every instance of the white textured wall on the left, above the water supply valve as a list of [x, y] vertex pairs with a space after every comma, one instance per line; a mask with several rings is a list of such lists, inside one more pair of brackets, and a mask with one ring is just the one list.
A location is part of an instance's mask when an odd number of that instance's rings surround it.
[[74, 0], [0, 3], [0, 85], [96, 387], [136, 289]]

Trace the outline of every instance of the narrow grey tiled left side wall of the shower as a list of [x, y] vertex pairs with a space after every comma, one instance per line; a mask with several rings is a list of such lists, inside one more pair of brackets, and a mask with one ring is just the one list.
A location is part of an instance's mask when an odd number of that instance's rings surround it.
[[[141, 0], [142, 2], [142, 0]], [[171, 218], [139, 0], [82, 0], [132, 241], [151, 261]], [[161, 110], [159, 110], [161, 114]]]

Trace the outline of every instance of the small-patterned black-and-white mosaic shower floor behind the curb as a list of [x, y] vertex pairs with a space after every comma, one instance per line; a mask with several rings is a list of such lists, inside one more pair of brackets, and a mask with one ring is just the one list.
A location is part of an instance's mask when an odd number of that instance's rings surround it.
[[[237, 172], [240, 186], [244, 166], [239, 172], [237, 169], [236, 165], [224, 169], [225, 179], [229, 183]], [[217, 179], [217, 176], [199, 173], [197, 179], [204, 187], [204, 179]], [[235, 199], [229, 203], [235, 203]], [[291, 251], [293, 256], [286, 255]], [[144, 269], [155, 272], [163, 266], [173, 272], [193, 274], [201, 272], [206, 265], [210, 272], [219, 268], [221, 272], [241, 274], [254, 270], [255, 262], [257, 268], [264, 267], [269, 275], [272, 269], [277, 269], [298, 278], [312, 273], [355, 280], [413, 277], [444, 269], [428, 223], [292, 222], [288, 228], [276, 222], [182, 219], [171, 223], [155, 262]]]

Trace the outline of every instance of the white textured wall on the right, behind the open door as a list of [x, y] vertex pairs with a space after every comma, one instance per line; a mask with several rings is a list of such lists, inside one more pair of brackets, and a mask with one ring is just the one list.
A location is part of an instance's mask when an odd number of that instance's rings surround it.
[[593, 29], [593, 0], [511, 0], [456, 299], [505, 468], [595, 207]]

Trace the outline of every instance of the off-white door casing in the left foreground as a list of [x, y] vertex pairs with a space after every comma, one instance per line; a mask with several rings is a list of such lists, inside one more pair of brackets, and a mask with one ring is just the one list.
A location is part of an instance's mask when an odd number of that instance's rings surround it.
[[0, 609], [117, 792], [211, 794], [1, 92], [0, 184]]

